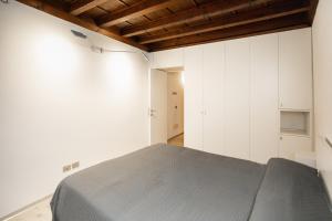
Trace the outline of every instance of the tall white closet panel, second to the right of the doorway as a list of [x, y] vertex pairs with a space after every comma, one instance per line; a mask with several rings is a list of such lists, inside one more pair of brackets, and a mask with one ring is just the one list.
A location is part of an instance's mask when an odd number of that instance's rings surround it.
[[224, 154], [225, 46], [204, 45], [204, 150]]

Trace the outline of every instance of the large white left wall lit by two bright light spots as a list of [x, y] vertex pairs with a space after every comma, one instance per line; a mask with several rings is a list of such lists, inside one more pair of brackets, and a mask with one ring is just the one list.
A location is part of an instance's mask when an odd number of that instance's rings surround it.
[[0, 3], [0, 218], [85, 168], [148, 145], [148, 64], [134, 50], [15, 1]]

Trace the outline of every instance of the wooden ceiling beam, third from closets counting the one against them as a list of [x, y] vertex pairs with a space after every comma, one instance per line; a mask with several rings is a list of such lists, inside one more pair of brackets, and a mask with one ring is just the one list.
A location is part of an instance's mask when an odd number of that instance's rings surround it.
[[149, 21], [141, 25], [129, 27], [122, 31], [124, 36], [134, 36], [146, 31], [156, 31], [166, 27], [176, 25], [189, 21], [201, 19], [204, 14], [217, 15], [225, 14], [235, 10], [248, 8], [253, 4], [270, 2], [271, 0], [215, 0], [198, 7], [179, 11], [173, 15]]

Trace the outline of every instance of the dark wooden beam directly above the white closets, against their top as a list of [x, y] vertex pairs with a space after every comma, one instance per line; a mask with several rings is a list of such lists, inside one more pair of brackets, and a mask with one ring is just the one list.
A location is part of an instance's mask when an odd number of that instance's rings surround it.
[[230, 39], [238, 39], [245, 36], [252, 36], [259, 34], [273, 33], [279, 31], [287, 31], [293, 29], [300, 29], [310, 27], [307, 14], [294, 14], [290, 17], [278, 18], [268, 21], [261, 21], [257, 23], [246, 24], [236, 28], [229, 28], [226, 30], [212, 31], [204, 34], [194, 34], [190, 36], [179, 38], [175, 40], [168, 40], [164, 42], [157, 42], [149, 44], [152, 52], [168, 50], [179, 46], [189, 46], [201, 43], [209, 43], [216, 41], [225, 41]]

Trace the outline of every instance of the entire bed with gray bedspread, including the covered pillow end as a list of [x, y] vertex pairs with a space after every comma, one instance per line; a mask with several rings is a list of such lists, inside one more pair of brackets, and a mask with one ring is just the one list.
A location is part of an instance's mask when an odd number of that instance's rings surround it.
[[155, 145], [64, 179], [53, 221], [331, 221], [317, 171]]

